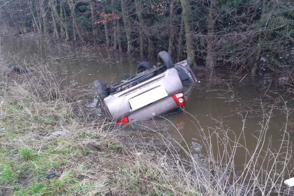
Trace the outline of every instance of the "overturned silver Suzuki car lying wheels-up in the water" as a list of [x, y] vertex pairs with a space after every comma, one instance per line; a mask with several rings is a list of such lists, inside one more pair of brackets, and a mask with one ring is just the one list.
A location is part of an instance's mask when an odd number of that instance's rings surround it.
[[93, 82], [107, 116], [117, 123], [151, 119], [185, 107], [182, 83], [195, 83], [187, 60], [173, 64], [166, 51], [158, 53], [159, 62], [141, 62], [137, 74], [118, 84]]

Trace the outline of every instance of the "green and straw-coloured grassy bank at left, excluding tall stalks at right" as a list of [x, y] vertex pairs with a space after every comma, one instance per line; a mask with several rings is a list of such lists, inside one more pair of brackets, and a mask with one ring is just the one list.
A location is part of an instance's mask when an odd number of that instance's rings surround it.
[[171, 159], [122, 144], [104, 118], [87, 123], [93, 88], [30, 66], [15, 73], [0, 59], [0, 195], [198, 195]]

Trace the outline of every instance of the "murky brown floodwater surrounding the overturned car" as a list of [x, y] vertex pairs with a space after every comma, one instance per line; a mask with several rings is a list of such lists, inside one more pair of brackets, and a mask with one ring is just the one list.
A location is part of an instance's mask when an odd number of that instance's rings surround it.
[[[138, 64], [138, 60], [118, 54], [104, 57], [82, 53], [56, 54], [30, 43], [11, 44], [10, 41], [2, 42], [1, 49], [17, 57], [11, 64], [21, 65], [37, 57], [42, 58], [49, 61], [53, 69], [65, 70], [70, 80], [80, 85], [90, 84], [96, 79], [105, 83], [122, 81], [136, 72]], [[121, 134], [128, 138], [126, 142], [141, 141], [146, 145], [152, 142], [159, 148], [170, 144], [183, 156], [189, 149], [195, 159], [206, 155], [207, 146], [210, 145], [215, 158], [220, 159], [224, 155], [224, 146], [228, 147], [221, 138], [228, 136], [231, 140], [229, 146], [236, 142], [239, 146], [234, 157], [236, 170], [242, 170], [248, 161], [246, 155], [256, 149], [260, 130], [265, 133], [260, 148], [278, 151], [281, 146], [287, 146], [287, 142], [282, 143], [282, 140], [288, 138], [291, 146], [294, 137], [288, 131], [292, 132], [294, 127], [291, 113], [294, 102], [283, 82], [266, 74], [243, 78], [232, 76], [226, 70], [216, 72], [215, 76], [209, 77], [204, 71], [195, 70], [194, 74], [200, 82], [190, 92], [185, 111], [121, 128]], [[269, 119], [268, 124], [266, 119]], [[287, 132], [284, 131], [286, 129]], [[281, 152], [286, 152], [285, 148]], [[260, 156], [262, 158], [262, 154]], [[227, 163], [224, 159], [220, 161]], [[288, 168], [293, 168], [293, 164], [294, 159], [290, 158]], [[281, 167], [283, 165], [277, 166], [277, 169]], [[268, 165], [264, 166], [265, 171], [269, 168]], [[290, 170], [286, 176], [294, 177], [294, 173]]]

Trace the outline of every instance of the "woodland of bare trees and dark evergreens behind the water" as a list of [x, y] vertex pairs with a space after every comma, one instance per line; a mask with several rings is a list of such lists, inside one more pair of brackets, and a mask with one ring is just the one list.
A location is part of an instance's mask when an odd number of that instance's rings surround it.
[[0, 19], [2, 34], [34, 32], [145, 59], [166, 50], [211, 71], [292, 72], [294, 64], [292, 0], [1, 0]]

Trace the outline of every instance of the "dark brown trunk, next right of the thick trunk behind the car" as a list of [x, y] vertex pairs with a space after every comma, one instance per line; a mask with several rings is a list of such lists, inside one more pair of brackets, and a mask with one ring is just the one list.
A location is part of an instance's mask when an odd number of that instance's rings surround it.
[[207, 18], [207, 54], [206, 54], [206, 69], [213, 72], [216, 65], [215, 58], [215, 36], [214, 36], [214, 21], [216, 19], [216, 0], [210, 1], [209, 16]]

